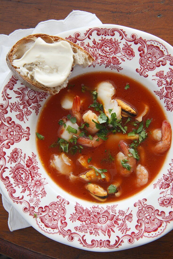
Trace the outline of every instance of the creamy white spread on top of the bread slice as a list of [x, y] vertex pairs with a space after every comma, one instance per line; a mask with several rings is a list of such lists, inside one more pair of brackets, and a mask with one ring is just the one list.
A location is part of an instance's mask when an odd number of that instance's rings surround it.
[[[46, 43], [37, 38], [34, 45], [25, 52], [23, 57], [13, 61], [13, 66], [21, 75], [34, 79], [47, 87], [61, 85], [70, 74], [73, 64], [73, 51], [67, 41]], [[33, 70], [24, 65], [32, 64]]]

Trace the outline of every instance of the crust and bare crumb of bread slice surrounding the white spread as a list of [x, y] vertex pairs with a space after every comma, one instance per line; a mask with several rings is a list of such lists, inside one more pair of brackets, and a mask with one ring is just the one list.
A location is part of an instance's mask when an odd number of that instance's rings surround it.
[[[10, 49], [9, 53], [6, 55], [6, 62], [8, 67], [12, 71], [13, 75], [17, 79], [19, 79], [24, 85], [26, 85], [27, 87], [33, 90], [44, 91], [49, 93], [50, 95], [55, 95], [61, 89], [65, 88], [68, 84], [68, 78], [66, 78], [66, 80], [61, 85], [57, 85], [56, 87], [46, 87], [43, 84], [40, 84], [39, 82], [37, 82], [34, 79], [32, 74], [30, 78], [28, 76], [23, 76], [16, 70], [17, 67], [13, 66], [12, 64], [13, 60], [20, 59], [24, 55], [24, 53], [33, 46], [34, 42], [38, 37], [43, 39], [45, 42], [52, 43], [52, 44], [62, 40], [69, 42], [73, 51], [72, 67], [75, 66], [76, 64], [79, 64], [82, 67], [87, 67], [94, 61], [94, 58], [87, 51], [85, 51], [78, 45], [74, 44], [73, 42], [60, 38], [58, 36], [50, 36], [47, 34], [33, 34], [27, 37], [24, 37], [23, 39], [16, 42], [16, 44]], [[32, 64], [29, 64], [29, 65], [26, 65], [25, 68], [28, 71], [31, 71], [33, 69], [33, 66]]]

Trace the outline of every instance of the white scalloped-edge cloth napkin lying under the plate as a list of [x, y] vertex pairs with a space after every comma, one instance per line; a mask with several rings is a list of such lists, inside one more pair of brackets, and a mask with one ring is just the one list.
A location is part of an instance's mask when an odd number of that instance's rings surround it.
[[[46, 33], [56, 35], [60, 32], [76, 29], [84, 26], [99, 26], [101, 21], [93, 13], [84, 11], [72, 11], [64, 20], [47, 20], [39, 23], [35, 28], [19, 29], [12, 32], [10, 35], [0, 34], [0, 91], [2, 84], [9, 74], [10, 69], [6, 64], [6, 54], [10, 48], [23, 37], [34, 33]], [[10, 231], [29, 227], [30, 224], [15, 210], [8, 202], [2, 190], [2, 203], [6, 211], [9, 213], [8, 226]]]

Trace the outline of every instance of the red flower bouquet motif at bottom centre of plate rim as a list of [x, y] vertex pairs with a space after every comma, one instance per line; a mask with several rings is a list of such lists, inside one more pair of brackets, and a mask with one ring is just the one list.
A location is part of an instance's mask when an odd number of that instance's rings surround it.
[[78, 227], [74, 227], [74, 229], [81, 233], [88, 233], [90, 235], [99, 235], [99, 232], [102, 234], [108, 235], [110, 238], [111, 231], [115, 233], [114, 228], [118, 228], [122, 234], [126, 234], [130, 228], [127, 227], [126, 220], [132, 222], [133, 215], [131, 213], [127, 214], [124, 211], [120, 211], [116, 213], [117, 205], [106, 206], [106, 209], [99, 206], [93, 206], [90, 208], [86, 208], [84, 210], [83, 206], [79, 203], [76, 203], [75, 213], [71, 214], [70, 220], [75, 222], [76, 220], [82, 222], [82, 224]]

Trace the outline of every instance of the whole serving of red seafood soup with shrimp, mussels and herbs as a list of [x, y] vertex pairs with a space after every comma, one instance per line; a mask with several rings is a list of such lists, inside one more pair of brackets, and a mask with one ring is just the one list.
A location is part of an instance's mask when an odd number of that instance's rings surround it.
[[[96, 72], [73, 78], [40, 114], [41, 162], [70, 195], [111, 202], [139, 192], [161, 170], [171, 125], [146, 87]], [[38, 135], [38, 134], [37, 134]]]

